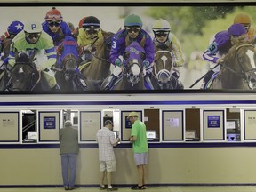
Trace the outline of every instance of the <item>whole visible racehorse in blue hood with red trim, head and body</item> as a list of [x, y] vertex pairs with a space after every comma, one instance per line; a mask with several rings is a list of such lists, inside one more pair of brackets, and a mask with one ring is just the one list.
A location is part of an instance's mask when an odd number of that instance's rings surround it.
[[60, 90], [86, 91], [89, 84], [78, 70], [78, 44], [72, 36], [65, 39], [57, 47], [57, 63], [55, 77]]

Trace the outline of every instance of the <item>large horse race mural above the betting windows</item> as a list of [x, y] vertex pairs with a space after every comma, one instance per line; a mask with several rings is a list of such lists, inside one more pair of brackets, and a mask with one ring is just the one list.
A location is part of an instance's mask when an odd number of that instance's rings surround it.
[[1, 4], [0, 94], [255, 92], [255, 9]]

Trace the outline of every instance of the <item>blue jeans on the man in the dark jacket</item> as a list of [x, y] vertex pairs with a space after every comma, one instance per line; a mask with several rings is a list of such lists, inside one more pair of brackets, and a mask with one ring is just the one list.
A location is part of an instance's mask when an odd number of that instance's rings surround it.
[[[64, 187], [74, 188], [76, 180], [76, 154], [61, 154], [62, 179]], [[68, 165], [70, 175], [68, 181]]]

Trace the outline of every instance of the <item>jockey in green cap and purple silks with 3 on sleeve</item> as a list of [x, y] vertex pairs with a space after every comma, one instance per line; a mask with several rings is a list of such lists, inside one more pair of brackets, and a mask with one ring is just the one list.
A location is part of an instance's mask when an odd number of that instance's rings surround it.
[[140, 16], [132, 14], [125, 18], [124, 29], [118, 31], [113, 36], [110, 51], [110, 62], [115, 65], [115, 68], [111, 76], [108, 77], [108, 83], [104, 86], [104, 89], [111, 89], [112, 85], [116, 82], [117, 77], [122, 74], [121, 67], [123, 54], [125, 48], [133, 41], [144, 43], [143, 48], [146, 54], [146, 59], [143, 60], [143, 68], [146, 69], [145, 86], [148, 90], [154, 89], [147, 75], [152, 72], [155, 48], [151, 37], [141, 27], [142, 20], [140, 19]]

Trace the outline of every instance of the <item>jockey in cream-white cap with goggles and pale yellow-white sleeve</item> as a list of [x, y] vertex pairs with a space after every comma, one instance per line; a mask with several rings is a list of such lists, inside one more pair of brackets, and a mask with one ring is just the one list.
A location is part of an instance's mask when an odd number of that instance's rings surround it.
[[[185, 56], [182, 52], [180, 42], [178, 38], [171, 33], [171, 26], [167, 20], [156, 20], [152, 28], [154, 32], [153, 42], [156, 47], [161, 50], [166, 50], [171, 48], [172, 50], [172, 60], [173, 67], [178, 68], [182, 67], [185, 64]], [[180, 77], [178, 70], [173, 70], [172, 75], [175, 76], [178, 80]], [[178, 81], [177, 89], [183, 89], [184, 86]]]

